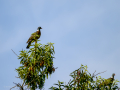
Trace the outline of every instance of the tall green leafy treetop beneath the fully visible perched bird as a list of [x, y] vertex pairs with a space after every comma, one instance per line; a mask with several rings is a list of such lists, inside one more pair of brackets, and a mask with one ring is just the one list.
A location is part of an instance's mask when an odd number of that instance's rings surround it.
[[25, 85], [28, 85], [31, 90], [42, 89], [45, 78], [48, 79], [48, 75], [55, 71], [53, 43], [47, 43], [47, 45], [35, 43], [33, 46], [29, 51], [20, 51], [18, 59], [22, 66], [16, 69], [19, 78], [24, 80]]

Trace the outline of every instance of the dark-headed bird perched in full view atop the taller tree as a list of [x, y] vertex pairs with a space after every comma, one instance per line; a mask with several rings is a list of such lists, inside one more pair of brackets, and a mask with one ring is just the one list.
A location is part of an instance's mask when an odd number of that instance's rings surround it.
[[26, 49], [29, 49], [31, 43], [32, 43], [32, 42], [35, 42], [36, 39], [39, 39], [39, 38], [40, 38], [40, 36], [41, 36], [41, 31], [40, 31], [40, 29], [42, 29], [42, 28], [41, 28], [41, 27], [38, 27], [38, 28], [37, 28], [37, 31], [34, 32], [34, 33], [29, 37], [28, 41], [26, 42], [26, 43], [28, 43]]

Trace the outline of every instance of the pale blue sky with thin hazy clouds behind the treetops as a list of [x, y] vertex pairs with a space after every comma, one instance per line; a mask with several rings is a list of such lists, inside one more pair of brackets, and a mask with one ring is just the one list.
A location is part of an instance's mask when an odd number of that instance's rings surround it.
[[[48, 90], [58, 80], [88, 66], [92, 74], [120, 81], [120, 0], [0, 0], [0, 90], [21, 80], [19, 51], [26, 50], [30, 35], [41, 26], [40, 43], [55, 43], [55, 73], [45, 81]], [[118, 83], [120, 87], [120, 83]], [[12, 89], [17, 90], [17, 89]], [[38, 89], [37, 89], [38, 90]]]

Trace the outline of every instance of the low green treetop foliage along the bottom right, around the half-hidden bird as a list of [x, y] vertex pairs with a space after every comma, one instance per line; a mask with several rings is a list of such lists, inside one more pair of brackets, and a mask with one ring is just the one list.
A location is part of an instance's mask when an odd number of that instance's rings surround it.
[[[51, 90], [63, 90], [61, 86], [66, 88], [66, 90], [116, 90], [118, 89], [117, 80], [115, 80], [112, 84], [103, 84], [100, 86], [100, 84], [106, 79], [102, 79], [101, 77], [97, 78], [96, 81], [93, 80], [94, 76], [91, 76], [91, 74], [87, 70], [87, 66], [81, 65], [81, 67], [75, 71], [73, 71], [70, 76], [73, 78], [72, 81], [68, 82], [67, 85], [63, 85], [63, 82], [58, 81], [59, 84], [57, 87], [51, 87], [49, 89]], [[104, 81], [103, 81], [104, 80]], [[107, 81], [107, 83], [111, 83], [111, 81]], [[60, 85], [62, 84], [62, 85]], [[100, 87], [99, 87], [100, 86]], [[108, 87], [106, 87], [108, 86]]]

